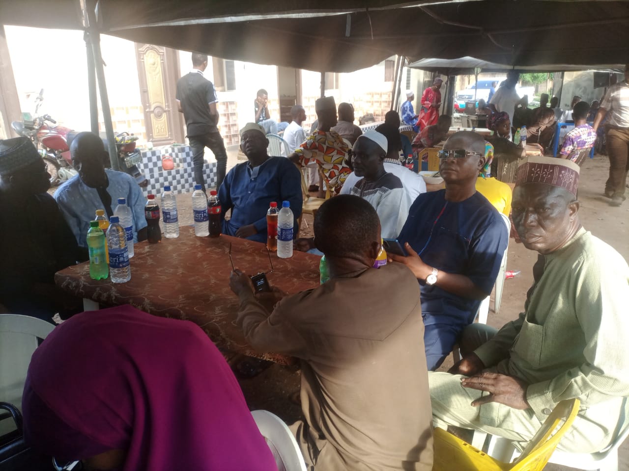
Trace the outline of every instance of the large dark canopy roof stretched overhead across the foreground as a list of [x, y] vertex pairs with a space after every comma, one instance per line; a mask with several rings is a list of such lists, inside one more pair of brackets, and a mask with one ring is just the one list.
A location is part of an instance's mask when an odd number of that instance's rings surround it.
[[[100, 33], [318, 72], [352, 72], [395, 54], [518, 67], [629, 59], [629, 3], [620, 0], [100, 0], [98, 11]], [[79, 0], [2, 2], [0, 18], [83, 28]]]

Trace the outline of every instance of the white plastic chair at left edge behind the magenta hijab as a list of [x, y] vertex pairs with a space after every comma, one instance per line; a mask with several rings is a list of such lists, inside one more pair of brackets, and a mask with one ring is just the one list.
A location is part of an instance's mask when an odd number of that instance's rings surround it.
[[46, 338], [53, 328], [53, 324], [36, 317], [0, 314], [0, 401], [21, 408], [31, 356], [38, 339]]

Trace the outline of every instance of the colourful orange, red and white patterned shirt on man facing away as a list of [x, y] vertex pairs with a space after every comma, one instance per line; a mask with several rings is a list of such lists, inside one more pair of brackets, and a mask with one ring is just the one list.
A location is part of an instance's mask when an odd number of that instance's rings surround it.
[[299, 146], [295, 153], [299, 163], [306, 166], [316, 161], [323, 171], [326, 185], [340, 187], [352, 170], [345, 163], [350, 148], [334, 131], [315, 131]]

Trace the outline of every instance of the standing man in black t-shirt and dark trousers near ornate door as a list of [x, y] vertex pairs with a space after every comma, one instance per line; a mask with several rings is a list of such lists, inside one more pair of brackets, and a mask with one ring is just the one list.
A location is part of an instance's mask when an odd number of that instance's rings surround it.
[[194, 181], [205, 192], [203, 158], [208, 147], [216, 158], [216, 188], [221, 187], [227, 168], [227, 153], [223, 137], [218, 132], [218, 97], [214, 85], [203, 77], [208, 67], [206, 54], [192, 53], [192, 70], [177, 80], [177, 107], [186, 120], [187, 138], [192, 151]]

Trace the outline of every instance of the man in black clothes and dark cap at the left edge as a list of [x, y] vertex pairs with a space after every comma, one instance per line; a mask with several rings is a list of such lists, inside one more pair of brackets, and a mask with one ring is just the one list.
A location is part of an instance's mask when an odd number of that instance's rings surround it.
[[78, 312], [81, 301], [55, 286], [55, 272], [74, 265], [79, 251], [48, 188], [30, 139], [0, 141], [0, 313], [52, 322], [58, 311]]

